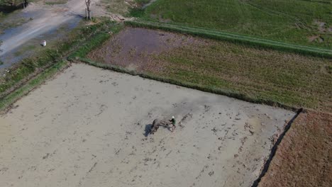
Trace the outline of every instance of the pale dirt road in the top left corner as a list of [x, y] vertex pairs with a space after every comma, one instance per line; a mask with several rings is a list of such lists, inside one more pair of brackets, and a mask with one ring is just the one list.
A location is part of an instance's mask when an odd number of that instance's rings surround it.
[[[94, 4], [99, 0], [93, 1]], [[0, 46], [3, 52], [1, 55], [11, 52], [26, 43], [28, 40], [37, 38], [38, 35], [43, 35], [60, 27], [62, 24], [71, 21], [79, 16], [84, 16], [85, 4], [82, 0], [70, 0], [64, 5], [43, 6], [40, 4], [31, 4], [26, 8], [27, 14], [34, 11], [40, 11], [37, 16], [33, 17], [32, 21], [23, 24], [15, 33], [10, 33], [9, 37], [3, 39]], [[48, 40], [48, 38], [40, 38], [41, 40]]]

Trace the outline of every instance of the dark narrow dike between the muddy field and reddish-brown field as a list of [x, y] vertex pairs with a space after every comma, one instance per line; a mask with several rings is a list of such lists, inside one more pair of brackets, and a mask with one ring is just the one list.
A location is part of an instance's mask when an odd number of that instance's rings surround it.
[[291, 128], [292, 123], [297, 118], [297, 116], [299, 116], [299, 114], [303, 113], [304, 111], [305, 111], [304, 108], [299, 108], [299, 110], [297, 111], [297, 114], [294, 115], [294, 117], [291, 120], [289, 120], [289, 122], [287, 123], [287, 125], [284, 127], [284, 131], [279, 135], [279, 137], [277, 137], [277, 140], [275, 141], [275, 144], [273, 145], [273, 147], [271, 149], [271, 153], [269, 155], [269, 158], [267, 159], [267, 161], [265, 162], [264, 166], [262, 167], [262, 171], [260, 173], [260, 176], [258, 177], [258, 179], [256, 179], [254, 181], [252, 187], [258, 187], [258, 185], [259, 185], [262, 177], [265, 176], [267, 170], [269, 169], [270, 163], [272, 162], [273, 157], [275, 157], [275, 153], [277, 152], [277, 148], [280, 145], [280, 142], [282, 142], [282, 139], [284, 138], [284, 135], [286, 135], [286, 133], [289, 130], [289, 128]]

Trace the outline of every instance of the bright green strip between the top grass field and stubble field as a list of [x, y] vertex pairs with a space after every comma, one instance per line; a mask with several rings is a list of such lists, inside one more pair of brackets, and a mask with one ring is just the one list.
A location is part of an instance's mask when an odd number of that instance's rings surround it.
[[192, 28], [187, 26], [179, 26], [172, 23], [159, 23], [153, 21], [126, 21], [126, 25], [133, 27], [143, 27], [167, 30], [177, 33], [185, 33], [189, 35], [197, 35], [199, 37], [211, 38], [215, 40], [226, 40], [229, 42], [236, 42], [253, 47], [269, 48], [273, 50], [282, 50], [285, 52], [297, 52], [302, 55], [312, 55], [316, 57], [326, 57], [332, 59], [332, 50], [324, 50], [316, 47], [307, 47], [301, 45], [292, 45], [284, 42], [276, 42], [272, 40], [264, 40], [260, 38], [252, 38], [245, 35], [236, 35], [226, 32], [218, 32], [215, 30], [206, 30], [202, 28]]

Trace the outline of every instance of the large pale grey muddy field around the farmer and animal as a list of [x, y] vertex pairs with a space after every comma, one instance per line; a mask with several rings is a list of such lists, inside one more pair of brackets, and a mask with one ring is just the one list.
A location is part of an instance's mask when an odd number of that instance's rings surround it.
[[1, 115], [0, 186], [251, 186], [293, 116], [72, 64]]

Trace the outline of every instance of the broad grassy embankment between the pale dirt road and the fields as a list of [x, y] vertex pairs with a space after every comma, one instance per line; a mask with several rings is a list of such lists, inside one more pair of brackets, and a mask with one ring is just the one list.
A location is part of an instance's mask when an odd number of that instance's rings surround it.
[[[83, 26], [72, 30], [65, 40], [53, 45], [52, 48], [38, 52], [37, 55], [28, 57], [11, 67], [6, 76], [0, 77], [0, 110], [9, 106], [12, 101], [19, 98], [18, 96], [22, 96], [31, 87], [38, 85], [38, 82], [41, 82], [45, 77], [55, 73], [52, 69], [60, 69], [64, 63], [62, 58], [82, 45], [82, 42], [94, 35], [109, 35], [109, 27], [113, 25], [114, 23], [111, 21], [101, 21], [101, 23], [92, 26]], [[43, 74], [38, 75], [42, 72]], [[38, 77], [36, 77], [37, 75]], [[31, 79], [33, 81], [29, 81]], [[23, 86], [27, 82], [28, 85]], [[23, 87], [21, 88], [21, 86]]]

